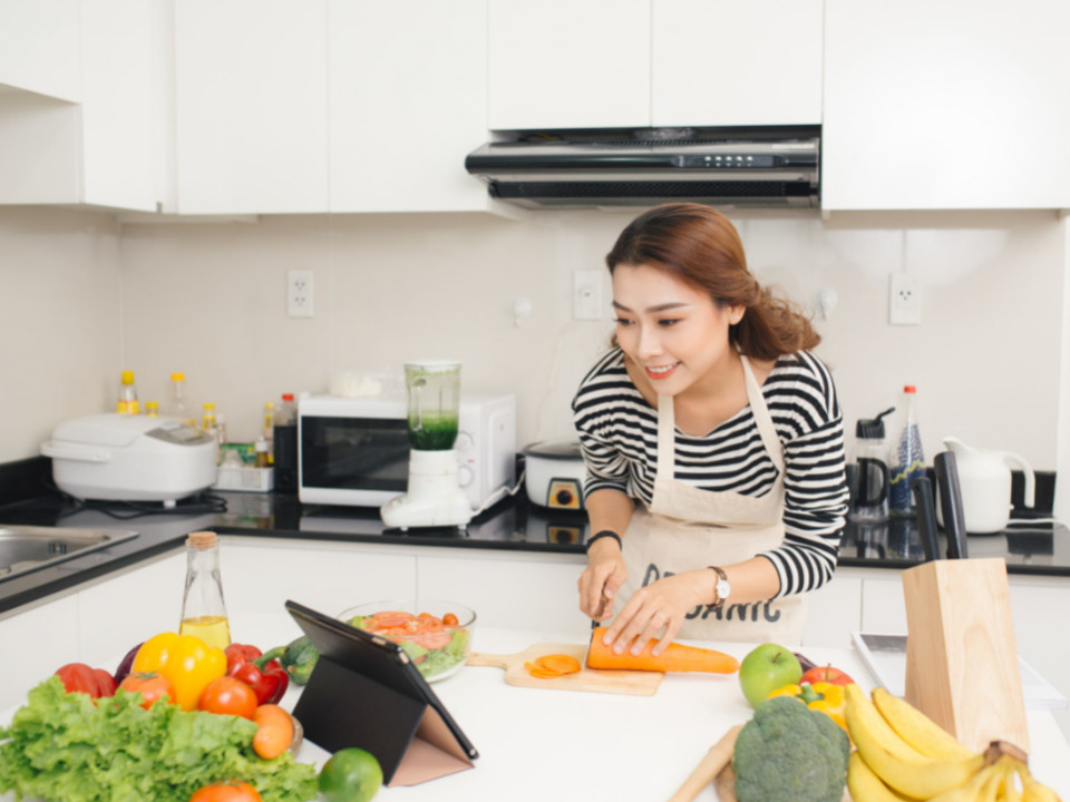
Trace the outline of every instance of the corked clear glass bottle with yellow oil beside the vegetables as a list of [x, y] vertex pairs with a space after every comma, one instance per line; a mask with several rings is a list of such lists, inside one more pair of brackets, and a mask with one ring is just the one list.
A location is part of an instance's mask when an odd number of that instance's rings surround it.
[[182, 596], [178, 634], [195, 635], [216, 648], [231, 645], [215, 532], [191, 532], [186, 538], [186, 588]]

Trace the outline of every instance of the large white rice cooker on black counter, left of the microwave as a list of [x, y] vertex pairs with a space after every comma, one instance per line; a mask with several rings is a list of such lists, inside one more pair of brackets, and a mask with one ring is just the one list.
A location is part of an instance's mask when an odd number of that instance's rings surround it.
[[214, 437], [177, 419], [117, 412], [56, 427], [41, 453], [52, 479], [81, 499], [174, 501], [215, 483]]

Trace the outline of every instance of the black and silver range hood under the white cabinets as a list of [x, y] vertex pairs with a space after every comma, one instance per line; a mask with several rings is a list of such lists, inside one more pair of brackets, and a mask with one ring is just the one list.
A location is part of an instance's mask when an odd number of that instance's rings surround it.
[[527, 208], [819, 205], [820, 128], [500, 133], [465, 159], [492, 197]]

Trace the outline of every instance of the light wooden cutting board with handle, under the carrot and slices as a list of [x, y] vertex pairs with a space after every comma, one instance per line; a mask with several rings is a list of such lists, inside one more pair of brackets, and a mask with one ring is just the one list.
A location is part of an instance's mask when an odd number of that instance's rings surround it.
[[509, 655], [471, 652], [468, 655], [467, 665], [505, 668], [505, 682], [518, 687], [593, 691], [595, 693], [619, 693], [636, 696], [653, 696], [665, 676], [661, 672], [605, 671], [584, 667], [577, 674], [565, 674], [553, 679], [533, 677], [524, 667], [524, 664], [548, 654], [571, 655], [583, 665], [587, 656], [587, 645], [541, 643]]

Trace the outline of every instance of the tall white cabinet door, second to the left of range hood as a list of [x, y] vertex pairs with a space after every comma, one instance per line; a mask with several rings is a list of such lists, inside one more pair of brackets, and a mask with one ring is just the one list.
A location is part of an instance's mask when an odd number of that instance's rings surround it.
[[178, 211], [328, 211], [327, 0], [177, 0]]

